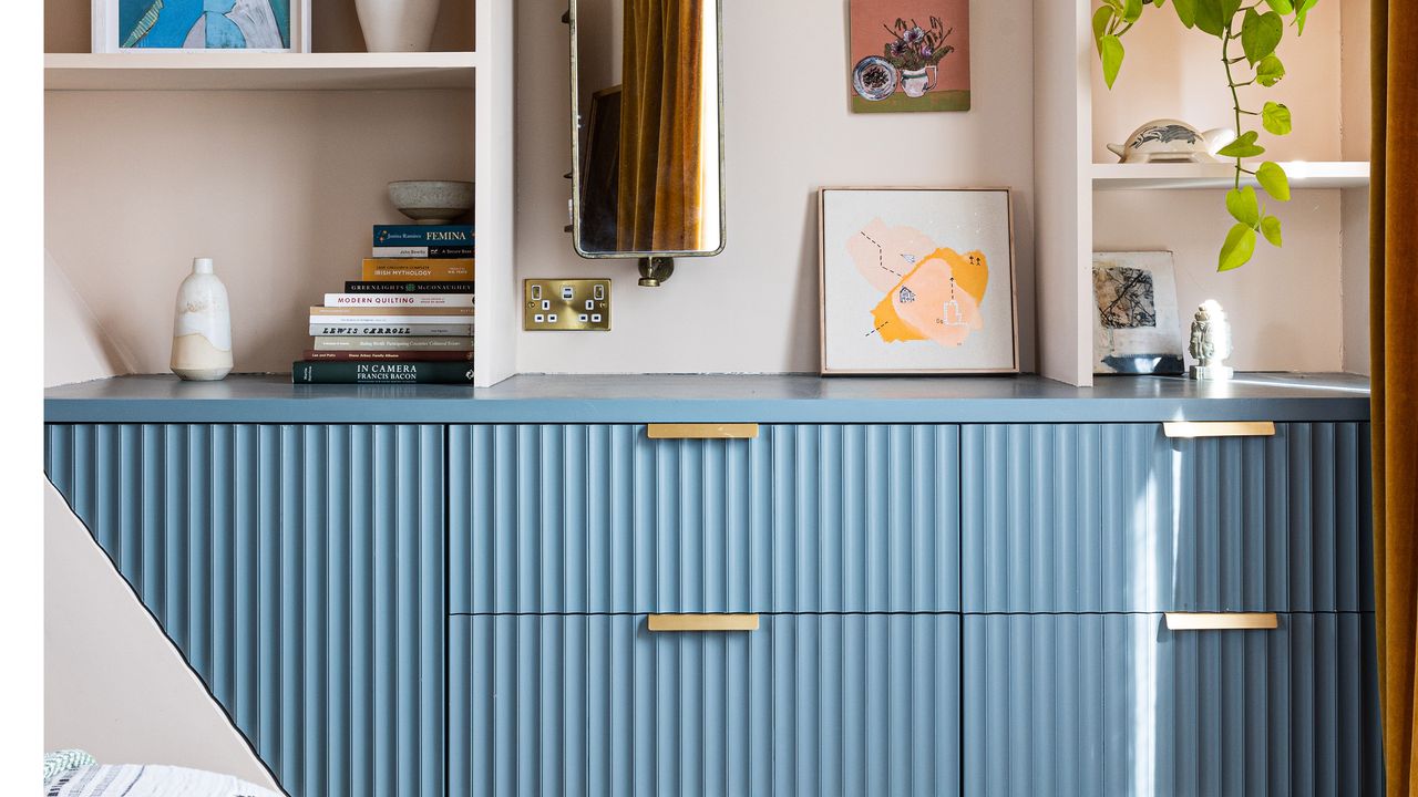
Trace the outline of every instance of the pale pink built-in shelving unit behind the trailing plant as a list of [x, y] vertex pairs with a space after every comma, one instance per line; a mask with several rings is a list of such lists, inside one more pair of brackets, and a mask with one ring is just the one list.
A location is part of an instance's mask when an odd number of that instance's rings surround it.
[[1244, 109], [1273, 99], [1293, 112], [1292, 135], [1262, 133], [1266, 157], [1286, 170], [1293, 196], [1280, 203], [1262, 194], [1266, 213], [1283, 224], [1285, 245], [1261, 243], [1251, 264], [1218, 274], [1221, 243], [1235, 224], [1222, 196], [1234, 166], [1120, 165], [1107, 149], [1153, 119], [1235, 126], [1215, 40], [1184, 30], [1170, 6], [1149, 7], [1129, 33], [1127, 60], [1110, 89], [1092, 30], [1100, 3], [1034, 1], [1039, 373], [1076, 386], [1095, 381], [1093, 252], [1163, 250], [1174, 255], [1183, 330], [1200, 302], [1219, 301], [1239, 369], [1366, 373], [1367, 4], [1322, 4], [1303, 37], [1288, 27], [1285, 81], [1242, 88]]

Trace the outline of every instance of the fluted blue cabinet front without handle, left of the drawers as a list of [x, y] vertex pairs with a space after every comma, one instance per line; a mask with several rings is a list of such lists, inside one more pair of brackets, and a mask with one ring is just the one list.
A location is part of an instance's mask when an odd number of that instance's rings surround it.
[[294, 797], [444, 794], [444, 427], [47, 427], [45, 472]]

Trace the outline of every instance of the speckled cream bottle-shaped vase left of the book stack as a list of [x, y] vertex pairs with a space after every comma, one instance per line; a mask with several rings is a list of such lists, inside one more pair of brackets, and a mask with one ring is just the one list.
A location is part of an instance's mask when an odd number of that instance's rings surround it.
[[173, 373], [213, 381], [231, 373], [231, 305], [227, 286], [213, 272], [211, 258], [191, 261], [191, 274], [177, 289], [173, 319]]

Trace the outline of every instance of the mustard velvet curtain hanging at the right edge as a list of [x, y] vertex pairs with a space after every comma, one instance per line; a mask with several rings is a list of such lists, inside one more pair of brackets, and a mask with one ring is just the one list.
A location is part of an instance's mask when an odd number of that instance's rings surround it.
[[1418, 3], [1371, 3], [1374, 574], [1384, 766], [1388, 794], [1418, 796]]

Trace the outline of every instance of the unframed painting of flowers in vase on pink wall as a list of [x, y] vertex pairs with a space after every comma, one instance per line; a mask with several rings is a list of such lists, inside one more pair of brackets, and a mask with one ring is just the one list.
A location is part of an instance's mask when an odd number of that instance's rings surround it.
[[970, 111], [970, 0], [851, 0], [855, 113]]

